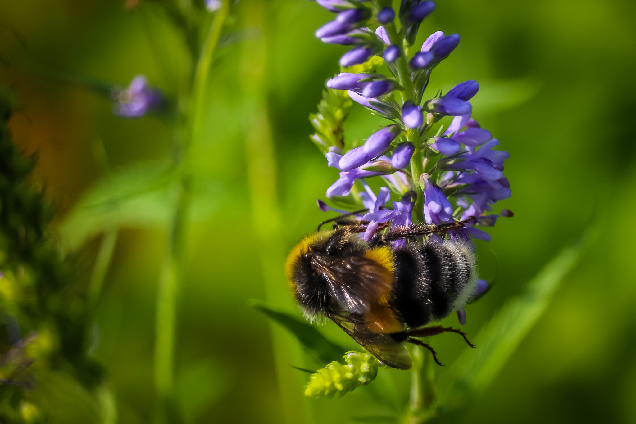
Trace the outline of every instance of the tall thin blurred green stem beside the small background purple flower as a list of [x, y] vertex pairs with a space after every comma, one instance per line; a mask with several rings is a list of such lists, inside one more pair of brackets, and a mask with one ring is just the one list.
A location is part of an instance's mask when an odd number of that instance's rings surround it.
[[[209, 80], [214, 52], [218, 45], [223, 25], [228, 16], [229, 0], [224, 0], [216, 12], [200, 55], [193, 57], [196, 63], [191, 93], [183, 93], [179, 106], [188, 105], [186, 128], [177, 123], [173, 165], [187, 169], [189, 153], [194, 140], [200, 135], [204, 99]], [[188, 101], [190, 102], [188, 104]], [[155, 390], [159, 402], [158, 418], [164, 422], [179, 422], [174, 399], [174, 345], [176, 327], [176, 299], [183, 280], [183, 250], [186, 216], [190, 207], [191, 175], [183, 172], [172, 186], [173, 212], [169, 224], [168, 247], [159, 278], [155, 321]]]

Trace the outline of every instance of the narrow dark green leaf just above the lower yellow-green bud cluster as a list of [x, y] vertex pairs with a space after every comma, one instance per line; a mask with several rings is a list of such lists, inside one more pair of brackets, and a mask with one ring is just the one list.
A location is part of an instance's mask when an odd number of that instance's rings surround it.
[[349, 350], [332, 343], [307, 322], [301, 321], [287, 312], [277, 311], [263, 301], [250, 299], [249, 305], [291, 331], [308, 352], [324, 364], [342, 360], [342, 355]]

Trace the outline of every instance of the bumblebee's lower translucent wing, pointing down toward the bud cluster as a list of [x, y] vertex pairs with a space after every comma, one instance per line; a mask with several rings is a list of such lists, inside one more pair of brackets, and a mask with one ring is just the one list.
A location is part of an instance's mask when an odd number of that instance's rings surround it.
[[329, 318], [384, 364], [397, 369], [411, 368], [412, 362], [408, 350], [389, 334], [369, 331], [364, 322], [358, 321], [353, 315], [347, 317], [329, 314]]

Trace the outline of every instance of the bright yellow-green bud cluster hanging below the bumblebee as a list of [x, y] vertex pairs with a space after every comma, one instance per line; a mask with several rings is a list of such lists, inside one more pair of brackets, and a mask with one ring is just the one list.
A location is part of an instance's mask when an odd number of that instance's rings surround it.
[[380, 362], [369, 353], [347, 352], [343, 358], [347, 365], [333, 361], [312, 374], [305, 386], [305, 396], [328, 399], [336, 393], [342, 396], [359, 385], [368, 385], [378, 374]]

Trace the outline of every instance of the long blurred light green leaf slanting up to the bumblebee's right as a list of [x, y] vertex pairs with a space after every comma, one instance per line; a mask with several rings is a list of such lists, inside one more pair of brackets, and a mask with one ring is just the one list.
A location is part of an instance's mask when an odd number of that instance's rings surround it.
[[476, 349], [467, 349], [440, 381], [438, 404], [462, 406], [467, 397], [483, 391], [534, 327], [550, 303], [563, 278], [597, 236], [598, 227], [586, 231], [581, 240], [562, 250], [525, 287], [484, 325], [476, 337]]

